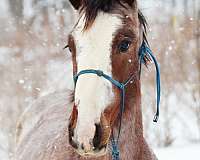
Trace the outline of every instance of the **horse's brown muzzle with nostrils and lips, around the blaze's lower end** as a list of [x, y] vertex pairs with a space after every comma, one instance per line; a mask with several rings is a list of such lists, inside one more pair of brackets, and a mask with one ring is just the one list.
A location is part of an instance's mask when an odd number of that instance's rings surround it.
[[71, 117], [70, 123], [68, 126], [69, 129], [69, 143], [75, 149], [75, 151], [81, 156], [86, 157], [97, 157], [106, 154], [107, 144], [110, 139], [111, 127], [106, 123], [104, 116], [101, 116], [100, 123], [94, 124], [95, 134], [93, 139], [86, 137], [84, 141], [78, 141], [78, 138], [75, 137], [74, 131], [76, 128], [77, 122], [77, 111], [74, 110]]

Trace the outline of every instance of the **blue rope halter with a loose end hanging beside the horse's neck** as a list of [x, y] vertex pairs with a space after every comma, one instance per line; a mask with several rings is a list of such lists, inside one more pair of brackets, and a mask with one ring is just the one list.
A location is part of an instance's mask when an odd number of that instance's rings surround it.
[[[139, 49], [139, 59], [140, 59], [140, 71], [139, 71], [139, 75], [141, 73], [141, 64], [144, 63], [144, 57], [145, 56], [149, 56], [151, 57], [151, 59], [153, 60], [155, 67], [156, 67], [156, 84], [157, 84], [157, 111], [154, 117], [154, 122], [158, 121], [159, 118], [159, 104], [160, 104], [160, 70], [159, 70], [159, 66], [157, 63], [156, 58], [153, 56], [152, 51], [150, 50], [150, 48], [148, 47], [148, 45], [146, 44], [145, 41], [143, 41], [140, 49]], [[118, 148], [118, 141], [119, 141], [119, 136], [120, 136], [120, 131], [121, 131], [121, 122], [122, 122], [122, 115], [124, 112], [124, 107], [125, 107], [125, 89], [126, 86], [130, 83], [130, 81], [134, 81], [137, 76], [138, 76], [138, 72], [132, 74], [127, 81], [125, 81], [124, 83], [121, 83], [115, 79], [113, 79], [112, 77], [110, 77], [109, 75], [103, 73], [103, 71], [101, 70], [95, 70], [95, 69], [86, 69], [86, 70], [82, 70], [79, 73], [74, 75], [74, 84], [76, 87], [76, 83], [78, 81], [78, 78], [83, 75], [83, 74], [96, 74], [99, 77], [103, 77], [106, 80], [110, 81], [114, 86], [116, 86], [117, 88], [119, 88], [120, 93], [121, 93], [121, 102], [120, 102], [120, 113], [119, 113], [119, 119], [120, 119], [120, 124], [119, 124], [119, 130], [118, 130], [118, 137], [117, 140], [114, 139], [113, 133], [112, 133], [112, 139], [111, 139], [111, 145], [112, 145], [112, 160], [120, 160], [120, 151]]]

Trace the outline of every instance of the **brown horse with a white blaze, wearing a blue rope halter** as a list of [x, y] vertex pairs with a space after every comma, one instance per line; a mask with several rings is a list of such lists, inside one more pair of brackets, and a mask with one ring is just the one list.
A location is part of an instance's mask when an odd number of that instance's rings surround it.
[[[147, 43], [147, 23], [137, 1], [69, 2], [78, 13], [65, 47], [74, 90], [42, 97], [25, 110], [15, 159], [156, 160], [143, 136], [138, 53]], [[142, 62], [149, 61], [144, 54]]]

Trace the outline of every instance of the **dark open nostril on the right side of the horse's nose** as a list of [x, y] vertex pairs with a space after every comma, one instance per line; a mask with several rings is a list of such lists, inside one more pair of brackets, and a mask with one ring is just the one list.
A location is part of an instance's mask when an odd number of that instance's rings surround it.
[[95, 124], [95, 126], [96, 126], [96, 130], [95, 130], [95, 135], [94, 135], [94, 138], [93, 138], [94, 150], [97, 149], [97, 148], [100, 148], [101, 135], [102, 135], [101, 125]]

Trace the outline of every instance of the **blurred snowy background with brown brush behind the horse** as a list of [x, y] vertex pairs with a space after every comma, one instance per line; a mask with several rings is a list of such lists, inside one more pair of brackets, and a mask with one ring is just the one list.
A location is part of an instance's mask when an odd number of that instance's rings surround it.
[[[145, 137], [160, 160], [200, 159], [200, 1], [140, 0], [162, 76], [155, 112], [153, 65], [143, 68]], [[17, 119], [35, 99], [72, 88], [63, 51], [73, 24], [67, 0], [0, 1], [0, 160], [12, 159]]]

